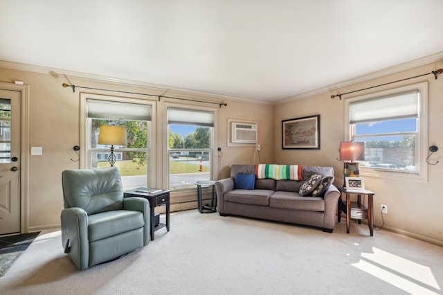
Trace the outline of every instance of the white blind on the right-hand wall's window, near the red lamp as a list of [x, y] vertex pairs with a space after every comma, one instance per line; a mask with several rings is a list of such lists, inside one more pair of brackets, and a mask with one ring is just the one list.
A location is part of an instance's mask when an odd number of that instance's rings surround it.
[[350, 124], [418, 118], [419, 91], [350, 102]]

